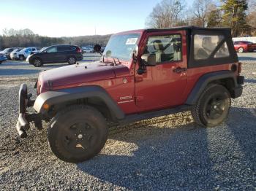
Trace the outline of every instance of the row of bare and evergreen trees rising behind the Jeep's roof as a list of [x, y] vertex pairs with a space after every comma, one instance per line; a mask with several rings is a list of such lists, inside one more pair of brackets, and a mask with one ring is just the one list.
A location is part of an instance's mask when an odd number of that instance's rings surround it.
[[233, 36], [256, 35], [255, 0], [162, 0], [146, 20], [151, 28], [230, 27]]

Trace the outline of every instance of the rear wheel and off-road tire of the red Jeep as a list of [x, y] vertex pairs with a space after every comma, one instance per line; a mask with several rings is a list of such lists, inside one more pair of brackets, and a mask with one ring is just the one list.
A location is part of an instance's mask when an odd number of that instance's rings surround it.
[[[192, 106], [192, 117], [198, 125], [203, 127], [214, 127], [227, 118], [230, 111], [230, 105], [230, 93], [226, 87], [222, 85], [208, 85], [198, 98], [197, 103]], [[217, 112], [216, 119], [210, 117], [211, 112]]]

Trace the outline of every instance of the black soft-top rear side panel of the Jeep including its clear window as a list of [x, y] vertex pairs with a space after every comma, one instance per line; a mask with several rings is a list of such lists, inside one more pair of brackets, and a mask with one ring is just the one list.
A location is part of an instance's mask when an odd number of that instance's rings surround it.
[[238, 62], [230, 30], [192, 30], [189, 68]]

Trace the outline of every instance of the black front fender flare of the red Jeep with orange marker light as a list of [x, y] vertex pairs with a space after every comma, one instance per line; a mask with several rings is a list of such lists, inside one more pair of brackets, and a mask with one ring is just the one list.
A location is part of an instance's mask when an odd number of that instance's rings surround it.
[[[44, 109], [45, 104], [48, 105], [48, 109]], [[113, 98], [110, 97], [105, 89], [96, 85], [42, 93], [38, 95], [34, 103], [34, 109], [45, 116], [54, 116], [57, 111], [72, 104], [94, 106], [106, 118], [111, 118], [112, 120], [124, 118], [124, 112], [113, 101]]]

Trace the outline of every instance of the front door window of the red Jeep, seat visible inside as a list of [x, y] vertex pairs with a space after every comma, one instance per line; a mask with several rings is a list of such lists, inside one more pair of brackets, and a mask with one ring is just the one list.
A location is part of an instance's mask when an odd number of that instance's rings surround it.
[[156, 55], [157, 63], [181, 61], [181, 35], [148, 37], [144, 54]]

